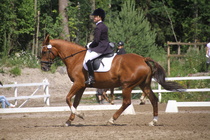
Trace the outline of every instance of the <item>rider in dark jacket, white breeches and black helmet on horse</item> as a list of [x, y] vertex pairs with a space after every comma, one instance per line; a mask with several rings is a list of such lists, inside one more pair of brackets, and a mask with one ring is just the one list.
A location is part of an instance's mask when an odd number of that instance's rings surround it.
[[108, 39], [108, 28], [103, 23], [105, 19], [105, 12], [103, 9], [96, 9], [92, 15], [94, 16], [93, 21], [96, 23], [96, 28], [94, 30], [94, 39], [93, 42], [88, 43], [87, 53], [85, 56], [85, 63], [88, 68], [89, 77], [85, 82], [88, 85], [91, 85], [95, 82], [94, 80], [94, 70], [91, 60], [99, 57], [102, 54], [112, 53], [112, 48], [109, 46]]

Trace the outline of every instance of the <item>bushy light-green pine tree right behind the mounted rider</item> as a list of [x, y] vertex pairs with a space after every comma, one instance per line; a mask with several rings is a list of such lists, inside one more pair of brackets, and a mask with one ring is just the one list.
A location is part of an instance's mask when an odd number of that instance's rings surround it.
[[125, 43], [129, 53], [151, 56], [151, 49], [156, 48], [156, 33], [151, 29], [142, 10], [136, 10], [134, 0], [123, 3], [119, 14], [113, 15], [109, 26], [110, 41]]

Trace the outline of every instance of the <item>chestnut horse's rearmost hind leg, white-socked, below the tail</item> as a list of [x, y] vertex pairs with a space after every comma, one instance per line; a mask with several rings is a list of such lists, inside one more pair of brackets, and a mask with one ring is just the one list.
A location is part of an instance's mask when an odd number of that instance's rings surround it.
[[142, 89], [142, 91], [147, 95], [147, 97], [149, 98], [152, 107], [153, 107], [153, 120], [149, 123], [150, 126], [154, 126], [157, 124], [157, 120], [158, 120], [158, 98], [155, 96], [154, 92], [152, 91], [150, 85], [148, 86], [140, 86], [140, 88]]

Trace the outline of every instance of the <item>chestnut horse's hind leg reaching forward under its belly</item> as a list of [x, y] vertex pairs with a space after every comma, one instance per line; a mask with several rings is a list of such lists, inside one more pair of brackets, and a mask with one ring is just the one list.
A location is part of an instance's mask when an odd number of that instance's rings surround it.
[[122, 112], [131, 104], [131, 91], [130, 88], [123, 89], [123, 103], [120, 109], [118, 109], [115, 114], [109, 119], [108, 123], [114, 124], [114, 121], [122, 114]]

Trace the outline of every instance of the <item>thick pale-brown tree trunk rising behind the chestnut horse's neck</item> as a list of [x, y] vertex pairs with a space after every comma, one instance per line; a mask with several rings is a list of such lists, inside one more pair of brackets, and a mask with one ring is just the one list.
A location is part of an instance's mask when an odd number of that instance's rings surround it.
[[68, 0], [59, 0], [59, 13], [62, 17], [62, 26], [63, 26], [63, 31], [60, 33], [60, 37], [64, 40], [70, 41], [68, 15], [66, 13], [67, 6], [68, 6]]

